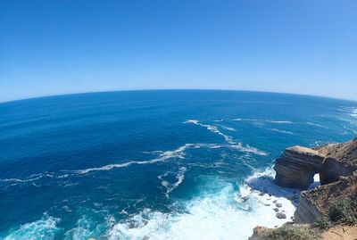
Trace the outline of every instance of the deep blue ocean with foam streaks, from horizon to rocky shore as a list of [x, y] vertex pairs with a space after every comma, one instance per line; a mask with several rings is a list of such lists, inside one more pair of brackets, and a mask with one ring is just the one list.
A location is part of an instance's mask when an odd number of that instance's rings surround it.
[[245, 239], [260, 221], [284, 222], [249, 177], [269, 186], [286, 146], [356, 133], [357, 103], [305, 95], [128, 91], [0, 103], [0, 238]]

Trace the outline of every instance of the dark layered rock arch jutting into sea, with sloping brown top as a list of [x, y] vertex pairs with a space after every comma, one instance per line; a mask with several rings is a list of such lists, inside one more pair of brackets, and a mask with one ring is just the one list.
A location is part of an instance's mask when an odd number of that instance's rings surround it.
[[350, 176], [357, 170], [357, 137], [342, 144], [316, 148], [293, 146], [286, 148], [276, 161], [275, 182], [279, 186], [307, 189], [313, 176], [320, 174], [322, 185], [335, 182], [340, 176]]

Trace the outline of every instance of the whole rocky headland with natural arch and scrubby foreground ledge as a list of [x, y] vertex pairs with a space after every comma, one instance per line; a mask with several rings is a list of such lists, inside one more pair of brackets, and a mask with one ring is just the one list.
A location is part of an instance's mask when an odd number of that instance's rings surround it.
[[[274, 170], [278, 186], [302, 190], [294, 220], [280, 228], [256, 227], [250, 239], [357, 239], [357, 137], [288, 147]], [[315, 174], [321, 185], [307, 190]]]

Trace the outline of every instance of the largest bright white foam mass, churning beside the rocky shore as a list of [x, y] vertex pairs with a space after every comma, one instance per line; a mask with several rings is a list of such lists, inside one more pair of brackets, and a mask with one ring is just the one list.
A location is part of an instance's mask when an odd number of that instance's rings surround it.
[[[201, 196], [184, 203], [183, 212], [140, 211], [128, 221], [115, 224], [108, 230], [107, 237], [243, 240], [252, 235], [256, 225], [270, 228], [280, 226], [295, 211], [295, 206], [286, 198], [261, 194], [247, 185], [240, 186], [237, 191], [232, 184], [217, 178], [212, 179], [206, 187], [218, 191], [207, 194], [203, 189]], [[276, 217], [276, 203], [282, 204], [279, 211], [284, 212], [287, 219]]]

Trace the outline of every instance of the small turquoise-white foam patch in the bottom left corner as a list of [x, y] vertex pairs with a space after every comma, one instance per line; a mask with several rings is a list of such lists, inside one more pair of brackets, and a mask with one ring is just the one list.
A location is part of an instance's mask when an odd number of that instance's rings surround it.
[[52, 240], [61, 230], [57, 227], [59, 221], [60, 219], [53, 218], [45, 213], [42, 219], [26, 223], [21, 225], [20, 228], [11, 230], [9, 235], [4, 237], [4, 240]]

